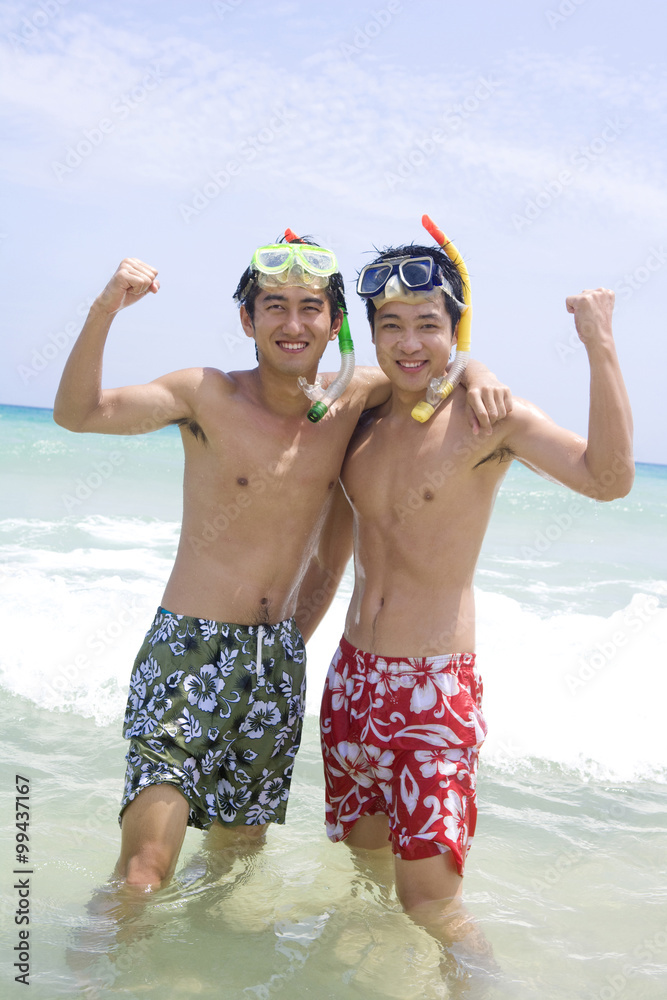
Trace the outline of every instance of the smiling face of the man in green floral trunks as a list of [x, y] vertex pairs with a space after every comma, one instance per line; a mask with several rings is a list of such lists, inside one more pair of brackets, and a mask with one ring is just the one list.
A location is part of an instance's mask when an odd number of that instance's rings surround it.
[[324, 349], [335, 340], [340, 314], [331, 322], [325, 290], [300, 285], [262, 290], [254, 303], [251, 319], [241, 307], [246, 336], [257, 344], [260, 364], [268, 364], [286, 375], [301, 375], [317, 369]]

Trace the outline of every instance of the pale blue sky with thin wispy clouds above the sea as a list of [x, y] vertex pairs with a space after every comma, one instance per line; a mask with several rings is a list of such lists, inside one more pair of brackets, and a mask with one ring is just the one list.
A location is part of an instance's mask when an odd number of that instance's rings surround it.
[[286, 226], [338, 253], [372, 363], [356, 272], [427, 212], [468, 263], [473, 355], [584, 434], [565, 297], [616, 290], [636, 455], [667, 463], [666, 36], [644, 0], [9, 0], [0, 402], [52, 405], [124, 256], [162, 288], [116, 321], [105, 384], [251, 366], [231, 296]]

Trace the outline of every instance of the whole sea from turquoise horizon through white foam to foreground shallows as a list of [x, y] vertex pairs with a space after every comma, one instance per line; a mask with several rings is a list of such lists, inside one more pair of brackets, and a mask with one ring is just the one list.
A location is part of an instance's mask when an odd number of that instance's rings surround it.
[[516, 464], [500, 492], [476, 580], [489, 737], [465, 878], [494, 973], [443, 972], [383, 862], [326, 839], [317, 711], [349, 573], [309, 643], [286, 825], [223, 860], [188, 831], [167, 889], [114, 896], [121, 719], [178, 540], [179, 435], [78, 436], [0, 407], [0, 470], [3, 997], [23, 995], [29, 953], [40, 1000], [664, 1000], [667, 467], [638, 466], [612, 504]]

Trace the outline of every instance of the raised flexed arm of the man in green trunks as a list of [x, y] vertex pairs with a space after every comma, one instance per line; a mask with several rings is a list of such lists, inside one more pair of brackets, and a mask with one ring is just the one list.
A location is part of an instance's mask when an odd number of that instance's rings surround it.
[[128, 257], [90, 308], [60, 380], [53, 407], [56, 423], [72, 431], [139, 434], [188, 417], [185, 402], [193, 373], [176, 372], [148, 385], [102, 389], [107, 335], [121, 309], [156, 293], [157, 271]]

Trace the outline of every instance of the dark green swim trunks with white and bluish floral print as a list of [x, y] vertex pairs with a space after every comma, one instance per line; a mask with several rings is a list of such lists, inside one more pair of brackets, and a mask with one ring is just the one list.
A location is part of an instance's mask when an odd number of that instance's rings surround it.
[[306, 704], [293, 619], [230, 625], [160, 608], [134, 662], [121, 816], [150, 785], [175, 785], [188, 825], [284, 823]]

